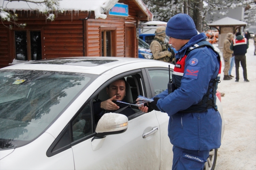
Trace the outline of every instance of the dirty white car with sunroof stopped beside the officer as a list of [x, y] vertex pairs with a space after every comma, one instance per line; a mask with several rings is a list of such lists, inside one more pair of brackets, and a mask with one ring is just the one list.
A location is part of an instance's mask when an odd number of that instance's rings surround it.
[[[165, 90], [168, 65], [139, 58], [76, 57], [0, 69], [0, 169], [171, 169], [166, 113], [132, 107], [134, 115], [106, 113], [97, 126], [93, 113], [93, 101], [106, 100], [106, 86], [123, 77], [129, 103], [138, 95], [151, 98]], [[216, 158], [217, 149], [211, 150], [205, 169], [213, 170]]]

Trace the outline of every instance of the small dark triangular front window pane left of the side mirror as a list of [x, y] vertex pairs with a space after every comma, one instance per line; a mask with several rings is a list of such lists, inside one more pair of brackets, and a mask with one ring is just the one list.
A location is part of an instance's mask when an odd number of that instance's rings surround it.
[[87, 135], [93, 133], [92, 124], [92, 110], [91, 104], [87, 104], [82, 112], [76, 116], [76, 118], [71, 122], [72, 124], [72, 141], [81, 139]]

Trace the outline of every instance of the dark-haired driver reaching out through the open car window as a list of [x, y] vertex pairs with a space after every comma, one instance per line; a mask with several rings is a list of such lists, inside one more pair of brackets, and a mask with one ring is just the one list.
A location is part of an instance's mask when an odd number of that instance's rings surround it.
[[[105, 114], [105, 113], [120, 113], [126, 115], [127, 117], [133, 115], [135, 112], [132, 110], [130, 105], [116, 102], [124, 101], [126, 93], [126, 80], [124, 78], [116, 80], [106, 87], [106, 91], [109, 99], [106, 101], [95, 101], [93, 102], [93, 111], [95, 115], [95, 123]], [[128, 106], [128, 107], [127, 107]], [[121, 110], [122, 109], [122, 110]]]

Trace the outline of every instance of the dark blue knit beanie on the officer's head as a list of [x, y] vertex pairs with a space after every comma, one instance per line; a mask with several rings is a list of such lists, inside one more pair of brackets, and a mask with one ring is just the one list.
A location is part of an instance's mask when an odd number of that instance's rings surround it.
[[197, 35], [197, 29], [189, 15], [177, 14], [167, 22], [165, 33], [169, 37], [188, 40]]

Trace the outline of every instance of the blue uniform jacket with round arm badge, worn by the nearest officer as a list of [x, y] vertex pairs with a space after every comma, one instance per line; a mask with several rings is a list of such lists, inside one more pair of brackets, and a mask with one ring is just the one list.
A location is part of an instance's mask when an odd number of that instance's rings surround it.
[[[204, 33], [192, 37], [178, 51], [176, 58], [184, 57], [187, 48], [205, 38]], [[210, 108], [200, 113], [177, 113], [202, 100], [210, 80], [215, 79], [219, 73], [219, 62], [217, 55], [208, 46], [192, 50], [185, 59], [180, 87], [169, 95], [165, 90], [156, 96], [160, 98], [157, 107], [170, 117], [168, 136], [174, 146], [188, 150], [220, 147], [222, 120], [218, 111]], [[191, 74], [193, 70], [195, 74]]]

